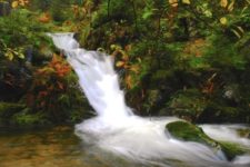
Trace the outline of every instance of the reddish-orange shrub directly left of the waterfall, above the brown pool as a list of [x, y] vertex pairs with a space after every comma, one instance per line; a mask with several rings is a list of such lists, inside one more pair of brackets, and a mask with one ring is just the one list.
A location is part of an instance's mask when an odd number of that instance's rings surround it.
[[76, 81], [76, 76], [66, 60], [53, 55], [49, 65], [37, 70], [27, 95], [27, 104], [32, 111], [43, 111], [54, 121], [70, 119], [70, 111], [80, 110], [81, 104], [84, 104]]

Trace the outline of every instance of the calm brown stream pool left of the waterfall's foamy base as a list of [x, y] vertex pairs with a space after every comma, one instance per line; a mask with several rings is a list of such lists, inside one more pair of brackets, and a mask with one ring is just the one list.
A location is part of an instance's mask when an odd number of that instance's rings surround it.
[[0, 131], [0, 167], [136, 167], [83, 144], [72, 127]]

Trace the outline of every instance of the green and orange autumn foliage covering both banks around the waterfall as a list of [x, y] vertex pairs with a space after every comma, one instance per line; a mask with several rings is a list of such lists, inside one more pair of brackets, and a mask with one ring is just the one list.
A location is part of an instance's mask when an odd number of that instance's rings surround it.
[[86, 114], [80, 107], [89, 109], [76, 75], [52, 56], [56, 50], [44, 35], [73, 31], [86, 49], [114, 57], [129, 105], [139, 114], [250, 121], [249, 0], [9, 4], [11, 12], [0, 17], [0, 100], [29, 108], [14, 120], [36, 122], [30, 115], [54, 122], [79, 120]]

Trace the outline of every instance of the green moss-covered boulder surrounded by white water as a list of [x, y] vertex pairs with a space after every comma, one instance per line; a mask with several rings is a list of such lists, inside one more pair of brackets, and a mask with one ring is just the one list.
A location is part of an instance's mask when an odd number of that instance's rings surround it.
[[229, 160], [236, 156], [246, 154], [248, 150], [237, 144], [217, 141], [206, 135], [202, 128], [186, 121], [173, 121], [166, 126], [167, 130], [177, 139], [196, 141], [207, 145], [217, 150], [222, 150]]

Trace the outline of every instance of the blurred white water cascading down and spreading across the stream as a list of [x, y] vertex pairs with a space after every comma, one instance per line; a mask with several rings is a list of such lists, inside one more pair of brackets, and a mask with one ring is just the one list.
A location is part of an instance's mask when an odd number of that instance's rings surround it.
[[[86, 143], [148, 166], [172, 166], [171, 161], [174, 160], [197, 167], [250, 165], [248, 155], [230, 163], [222, 153], [204, 145], [172, 138], [164, 126], [178, 118], [148, 119], [134, 116], [124, 102], [110, 56], [80, 49], [73, 33], [49, 36], [63, 50], [90, 105], [97, 111], [97, 117], [76, 126], [77, 134]], [[210, 137], [250, 147], [249, 139], [240, 138], [232, 127], [203, 125], [202, 128]]]

